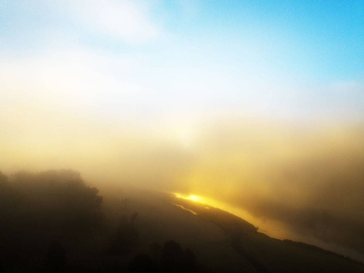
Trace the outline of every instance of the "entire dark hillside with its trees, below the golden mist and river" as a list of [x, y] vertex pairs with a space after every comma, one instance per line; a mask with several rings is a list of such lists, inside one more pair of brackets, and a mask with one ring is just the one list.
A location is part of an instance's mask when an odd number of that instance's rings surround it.
[[0, 272], [364, 272], [172, 194], [89, 187], [80, 173], [0, 173]]

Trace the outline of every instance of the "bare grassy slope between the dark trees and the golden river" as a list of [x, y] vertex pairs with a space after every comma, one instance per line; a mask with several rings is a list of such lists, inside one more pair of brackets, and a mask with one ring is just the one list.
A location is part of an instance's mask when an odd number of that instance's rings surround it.
[[141, 241], [178, 241], [195, 251], [207, 272], [364, 272], [360, 262], [270, 238], [244, 219], [206, 204], [144, 191], [130, 193], [129, 201], [128, 211], [140, 211]]

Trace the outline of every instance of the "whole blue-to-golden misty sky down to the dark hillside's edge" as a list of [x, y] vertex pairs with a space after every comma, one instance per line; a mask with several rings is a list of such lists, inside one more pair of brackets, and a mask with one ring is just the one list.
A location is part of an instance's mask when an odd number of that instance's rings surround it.
[[0, 168], [206, 196], [364, 253], [363, 59], [363, 1], [0, 0]]

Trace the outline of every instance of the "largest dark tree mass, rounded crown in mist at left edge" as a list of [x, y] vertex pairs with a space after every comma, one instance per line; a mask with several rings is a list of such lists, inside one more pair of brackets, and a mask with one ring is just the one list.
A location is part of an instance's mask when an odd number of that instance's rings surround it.
[[[4, 267], [33, 266], [50, 238], [91, 238], [103, 218], [101, 203], [98, 189], [86, 186], [76, 171], [22, 171], [9, 178], [0, 172], [0, 257]], [[50, 246], [44, 260], [48, 268], [62, 268], [60, 249], [55, 242]]]

